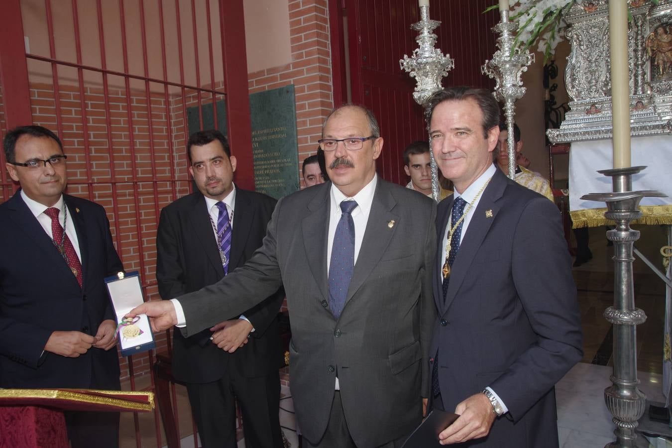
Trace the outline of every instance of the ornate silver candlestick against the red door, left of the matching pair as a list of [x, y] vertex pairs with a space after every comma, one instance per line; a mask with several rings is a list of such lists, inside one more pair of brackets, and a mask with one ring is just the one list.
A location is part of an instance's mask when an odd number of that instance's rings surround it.
[[[443, 87], [441, 81], [448, 75], [448, 71], [455, 66], [454, 60], [450, 54], [444, 54], [439, 48], [434, 48], [436, 44], [436, 34], [432, 30], [441, 25], [438, 20], [429, 19], [429, 6], [420, 7], [420, 21], [411, 25], [415, 31], [419, 31], [415, 41], [418, 48], [413, 50], [409, 57], [404, 54], [404, 58], [399, 60], [401, 69], [409, 73], [411, 78], [415, 78], [417, 85], [413, 92], [413, 99], [419, 105], [426, 107], [427, 99], [441, 90]], [[429, 130], [429, 123], [427, 123]], [[431, 195], [435, 201], [439, 201], [439, 175], [436, 168], [433, 151], [431, 151], [431, 140], [429, 141], [429, 160], [431, 161]]]

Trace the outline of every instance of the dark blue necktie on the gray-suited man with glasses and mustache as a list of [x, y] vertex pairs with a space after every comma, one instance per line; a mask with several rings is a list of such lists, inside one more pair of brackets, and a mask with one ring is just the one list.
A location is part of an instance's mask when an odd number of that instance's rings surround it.
[[355, 223], [351, 212], [357, 207], [355, 201], [341, 202], [341, 219], [336, 226], [329, 263], [329, 308], [335, 318], [341, 316], [347, 288], [350, 286], [355, 267]]

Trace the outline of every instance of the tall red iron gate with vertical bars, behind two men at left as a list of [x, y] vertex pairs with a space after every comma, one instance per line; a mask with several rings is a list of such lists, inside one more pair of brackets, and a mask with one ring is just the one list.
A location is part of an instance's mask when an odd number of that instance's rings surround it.
[[[187, 107], [198, 107], [203, 128], [209, 105], [217, 126], [212, 103], [226, 99], [236, 181], [254, 188], [245, 60], [242, 0], [3, 1], [0, 137], [25, 124], [58, 134], [68, 192], [106, 208], [125, 269], [141, 273], [145, 300], [159, 299], [159, 212], [191, 189]], [[5, 201], [17, 185], [3, 153], [0, 166]], [[169, 338], [157, 335], [157, 349], [169, 350]], [[154, 361], [153, 351], [120, 359], [132, 390]], [[137, 415], [134, 422], [140, 447]], [[155, 430], [160, 447], [156, 413]]]

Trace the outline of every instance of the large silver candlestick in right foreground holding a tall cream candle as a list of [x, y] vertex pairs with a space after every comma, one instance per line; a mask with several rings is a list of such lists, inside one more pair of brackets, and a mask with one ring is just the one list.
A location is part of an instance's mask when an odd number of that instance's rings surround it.
[[[630, 222], [642, 216], [639, 201], [643, 197], [665, 197], [659, 191], [632, 191], [632, 176], [646, 167], [629, 167], [597, 171], [612, 177], [613, 193], [590, 193], [581, 199], [605, 201], [604, 216], [616, 222], [616, 228], [607, 232], [614, 242], [614, 305], [607, 308], [604, 317], [614, 325], [614, 373], [612, 386], [604, 390], [604, 401], [616, 424], [616, 442], [605, 448], [632, 448], [639, 418], [644, 414], [646, 396], [638, 389], [636, 326], [644, 323], [646, 314], [634, 304], [632, 280], [632, 245], [639, 239], [639, 231], [630, 228]], [[646, 443], [648, 446], [648, 443]]]

